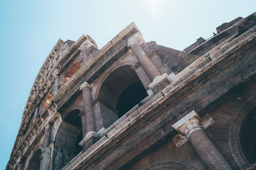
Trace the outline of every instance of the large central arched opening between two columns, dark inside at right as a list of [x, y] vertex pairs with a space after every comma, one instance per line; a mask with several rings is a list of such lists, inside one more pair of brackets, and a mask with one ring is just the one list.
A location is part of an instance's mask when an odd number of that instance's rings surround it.
[[109, 127], [147, 96], [147, 91], [131, 66], [115, 69], [99, 90], [99, 105], [104, 127]]

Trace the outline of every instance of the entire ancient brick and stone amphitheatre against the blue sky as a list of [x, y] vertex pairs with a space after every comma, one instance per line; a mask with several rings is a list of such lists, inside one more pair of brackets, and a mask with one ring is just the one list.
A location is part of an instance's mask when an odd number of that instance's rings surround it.
[[6, 169], [256, 169], [256, 13], [183, 52], [134, 23], [56, 43]]

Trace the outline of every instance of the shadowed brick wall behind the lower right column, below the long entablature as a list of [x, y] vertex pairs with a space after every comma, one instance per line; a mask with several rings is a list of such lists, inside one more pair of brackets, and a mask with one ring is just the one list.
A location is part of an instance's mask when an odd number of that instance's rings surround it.
[[[237, 85], [199, 112], [200, 115], [208, 113], [215, 121], [214, 124], [205, 129], [205, 132], [232, 166], [232, 169], [244, 169], [250, 166], [250, 163], [244, 157], [239, 132], [244, 118], [255, 107], [256, 78], [254, 77]], [[252, 139], [248, 138], [247, 140]], [[205, 169], [189, 142], [187, 141], [177, 148], [172, 141], [172, 136], [164, 139], [164, 141], [159, 141], [120, 169], [144, 168]]]

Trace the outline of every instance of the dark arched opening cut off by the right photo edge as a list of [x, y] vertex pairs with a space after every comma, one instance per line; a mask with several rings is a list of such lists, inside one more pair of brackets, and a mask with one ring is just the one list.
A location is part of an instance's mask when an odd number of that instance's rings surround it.
[[244, 121], [240, 129], [240, 143], [244, 156], [250, 164], [256, 162], [256, 107], [253, 108]]

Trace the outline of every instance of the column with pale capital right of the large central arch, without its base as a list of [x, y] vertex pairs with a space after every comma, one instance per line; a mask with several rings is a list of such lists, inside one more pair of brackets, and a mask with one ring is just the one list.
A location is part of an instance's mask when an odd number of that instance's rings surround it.
[[128, 46], [131, 46], [131, 50], [139, 60], [141, 66], [145, 69], [151, 81], [154, 81], [154, 78], [161, 76], [161, 73], [152, 60], [149, 59], [143, 48], [141, 48], [140, 42], [144, 42], [144, 40], [140, 33], [136, 33], [128, 39]]

